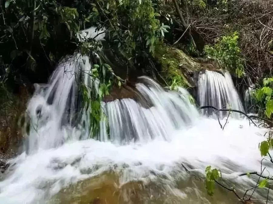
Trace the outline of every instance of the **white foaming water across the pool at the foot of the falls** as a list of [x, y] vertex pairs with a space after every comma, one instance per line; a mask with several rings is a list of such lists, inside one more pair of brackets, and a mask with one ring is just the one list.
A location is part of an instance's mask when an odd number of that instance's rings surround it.
[[[110, 169], [124, 175], [123, 183], [152, 179], [154, 174], [150, 170], [170, 178], [174, 170], [179, 172], [177, 177], [187, 176], [181, 162], [203, 173], [207, 165], [234, 175], [254, 171], [260, 168], [258, 144], [265, 139], [265, 131], [249, 127], [247, 120], [235, 119], [229, 120], [223, 131], [218, 121], [200, 118], [194, 125], [174, 131], [170, 141], [155, 139], [123, 146], [92, 139], [70, 141], [55, 149], [16, 158], [14, 172], [0, 183], [0, 200], [4, 203], [45, 200], [71, 182]], [[241, 182], [247, 182], [244, 179]]]

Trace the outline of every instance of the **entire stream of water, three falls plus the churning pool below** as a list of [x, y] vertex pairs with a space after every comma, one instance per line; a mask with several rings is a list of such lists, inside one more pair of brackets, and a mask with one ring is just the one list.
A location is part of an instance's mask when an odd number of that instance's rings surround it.
[[[220, 168], [241, 187], [256, 184], [238, 174], [260, 169], [258, 144], [266, 129], [229, 118], [222, 130], [218, 121], [199, 114], [185, 89], [165, 91], [148, 77], [136, 84], [148, 105], [133, 99], [103, 103], [110, 138], [102, 121], [101, 141], [87, 139], [89, 118], [77, 102], [75, 74], [89, 71], [88, 61], [75, 56], [61, 63], [49, 84], [36, 90], [27, 109], [33, 123], [29, 154], [10, 161], [10, 173], [0, 182], [0, 203], [236, 202], [226, 192], [216, 200], [207, 196], [202, 181], [181, 163], [197, 174], [207, 165]], [[88, 77], [82, 77], [85, 84], [92, 81]], [[228, 73], [206, 72], [199, 89], [201, 105], [231, 103], [242, 110]]]

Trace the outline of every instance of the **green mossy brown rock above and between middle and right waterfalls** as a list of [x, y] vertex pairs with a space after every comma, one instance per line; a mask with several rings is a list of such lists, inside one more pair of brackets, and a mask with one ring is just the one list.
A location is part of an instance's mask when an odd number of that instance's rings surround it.
[[170, 86], [174, 80], [184, 87], [194, 87], [194, 75], [202, 70], [218, 70], [218, 66], [209, 59], [193, 58], [182, 50], [161, 44], [156, 47], [154, 57], [161, 65], [160, 75]]

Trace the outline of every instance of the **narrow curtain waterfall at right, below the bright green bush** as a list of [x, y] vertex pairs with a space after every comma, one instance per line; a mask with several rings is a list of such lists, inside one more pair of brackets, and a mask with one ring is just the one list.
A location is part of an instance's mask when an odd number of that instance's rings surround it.
[[[216, 108], [234, 109], [244, 112], [243, 105], [234, 87], [230, 74], [206, 70], [198, 80], [198, 101], [200, 106], [211, 105]], [[211, 113], [204, 110], [204, 113]], [[223, 117], [226, 113], [221, 112]], [[238, 114], [234, 114], [238, 115]]]

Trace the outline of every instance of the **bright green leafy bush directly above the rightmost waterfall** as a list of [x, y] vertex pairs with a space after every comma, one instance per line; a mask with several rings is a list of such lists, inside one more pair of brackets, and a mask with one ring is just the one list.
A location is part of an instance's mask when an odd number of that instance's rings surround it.
[[238, 77], [244, 75], [244, 65], [241, 49], [238, 45], [238, 33], [222, 37], [214, 46], [206, 45], [204, 52], [211, 58], [219, 60], [228, 70], [235, 71]]

